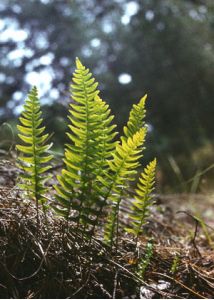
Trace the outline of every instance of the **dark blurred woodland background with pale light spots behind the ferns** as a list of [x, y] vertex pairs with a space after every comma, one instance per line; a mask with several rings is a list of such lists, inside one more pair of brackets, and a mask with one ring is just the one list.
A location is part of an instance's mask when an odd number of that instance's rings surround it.
[[76, 56], [119, 130], [148, 94], [144, 161], [157, 157], [159, 191], [212, 190], [213, 0], [1, 0], [0, 149], [15, 144], [17, 116], [37, 85], [61, 150]]

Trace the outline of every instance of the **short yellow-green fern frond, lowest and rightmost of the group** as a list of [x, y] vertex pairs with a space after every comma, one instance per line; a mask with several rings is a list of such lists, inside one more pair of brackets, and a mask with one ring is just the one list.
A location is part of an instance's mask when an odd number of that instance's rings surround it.
[[132, 212], [129, 214], [132, 220], [131, 228], [126, 228], [126, 231], [133, 233], [136, 236], [136, 240], [138, 240], [138, 236], [143, 230], [142, 226], [147, 222], [149, 208], [154, 203], [151, 193], [154, 190], [155, 169], [156, 159], [151, 161], [144, 169], [144, 172], [141, 173], [135, 190], [135, 200], [131, 206]]

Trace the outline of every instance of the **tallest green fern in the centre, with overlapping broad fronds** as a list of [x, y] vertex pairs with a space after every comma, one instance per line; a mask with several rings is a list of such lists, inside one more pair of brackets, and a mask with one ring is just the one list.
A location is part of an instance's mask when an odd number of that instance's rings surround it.
[[108, 105], [98, 96], [98, 84], [79, 59], [72, 81], [69, 144], [65, 149], [65, 168], [55, 187], [59, 204], [55, 210], [67, 219], [94, 226], [102, 206], [97, 178], [115, 146], [115, 125], [111, 125], [113, 117]]

